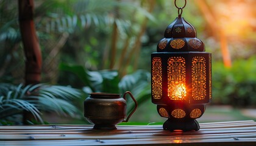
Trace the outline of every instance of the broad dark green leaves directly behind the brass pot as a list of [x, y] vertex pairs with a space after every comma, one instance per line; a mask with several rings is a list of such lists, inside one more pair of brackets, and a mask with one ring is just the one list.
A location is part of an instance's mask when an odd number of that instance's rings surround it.
[[[119, 78], [117, 71], [88, 71], [83, 66], [61, 64], [60, 70], [72, 72], [84, 83], [84, 92], [113, 92], [123, 94], [132, 92], [138, 105], [151, 97], [151, 74], [144, 70], [138, 70], [133, 74]], [[133, 109], [133, 102], [127, 98], [127, 111]]]

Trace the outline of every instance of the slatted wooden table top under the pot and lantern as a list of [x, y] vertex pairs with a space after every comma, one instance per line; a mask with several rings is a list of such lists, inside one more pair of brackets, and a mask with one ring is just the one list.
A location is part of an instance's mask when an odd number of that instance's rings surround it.
[[199, 131], [171, 132], [162, 125], [119, 125], [92, 130], [91, 125], [0, 127], [0, 145], [256, 145], [253, 120], [200, 123]]

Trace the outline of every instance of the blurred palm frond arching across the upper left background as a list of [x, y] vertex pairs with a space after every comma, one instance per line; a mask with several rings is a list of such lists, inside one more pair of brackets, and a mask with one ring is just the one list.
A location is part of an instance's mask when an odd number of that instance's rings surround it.
[[[49, 5], [48, 3], [52, 3]], [[115, 7], [119, 7], [119, 12], [115, 12]], [[137, 10], [137, 15], [143, 15], [154, 20], [151, 13], [141, 8], [139, 3], [134, 2], [119, 2], [119, 1], [76, 1], [76, 2], [59, 2], [59, 1], [44, 1], [36, 9], [36, 12], [41, 10], [48, 11], [48, 15], [41, 16], [40, 21], [45, 27], [46, 32], [69, 32], [72, 33], [80, 26], [80, 28], [95, 26], [112, 26], [116, 23], [118, 30], [122, 35], [129, 33], [131, 22], [126, 17], [113, 18], [113, 13], [121, 13], [127, 15]], [[41, 10], [40, 10], [41, 9]], [[65, 15], [64, 15], [65, 14]], [[38, 13], [40, 15], [40, 13]]]

